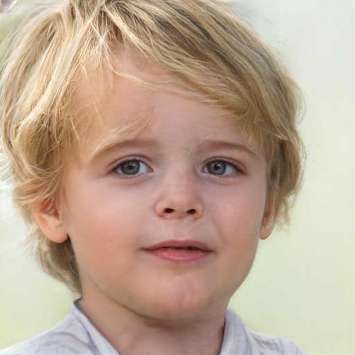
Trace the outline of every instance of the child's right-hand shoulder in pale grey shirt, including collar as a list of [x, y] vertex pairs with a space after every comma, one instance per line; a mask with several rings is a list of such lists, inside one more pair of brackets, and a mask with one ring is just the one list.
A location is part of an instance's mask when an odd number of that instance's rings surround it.
[[291, 340], [253, 331], [232, 309], [227, 309], [220, 355], [232, 354], [306, 355]]

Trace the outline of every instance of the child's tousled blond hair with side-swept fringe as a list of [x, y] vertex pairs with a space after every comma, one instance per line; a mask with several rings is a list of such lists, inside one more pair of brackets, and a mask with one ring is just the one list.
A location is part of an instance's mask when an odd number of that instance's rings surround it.
[[0, 67], [3, 171], [32, 228], [42, 268], [80, 293], [70, 239], [54, 243], [31, 203], [55, 206], [75, 133], [80, 83], [112, 71], [119, 53], [139, 53], [184, 83], [187, 94], [223, 107], [263, 148], [269, 194], [287, 220], [302, 175], [296, 130], [302, 96], [254, 32], [215, 0], [62, 0], [33, 12], [6, 42]]

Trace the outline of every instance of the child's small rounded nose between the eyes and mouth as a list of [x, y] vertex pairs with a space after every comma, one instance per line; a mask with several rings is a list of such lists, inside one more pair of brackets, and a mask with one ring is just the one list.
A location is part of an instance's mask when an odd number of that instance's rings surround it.
[[204, 212], [205, 207], [195, 179], [175, 176], [162, 182], [155, 203], [157, 216], [167, 219], [187, 217], [198, 219]]

